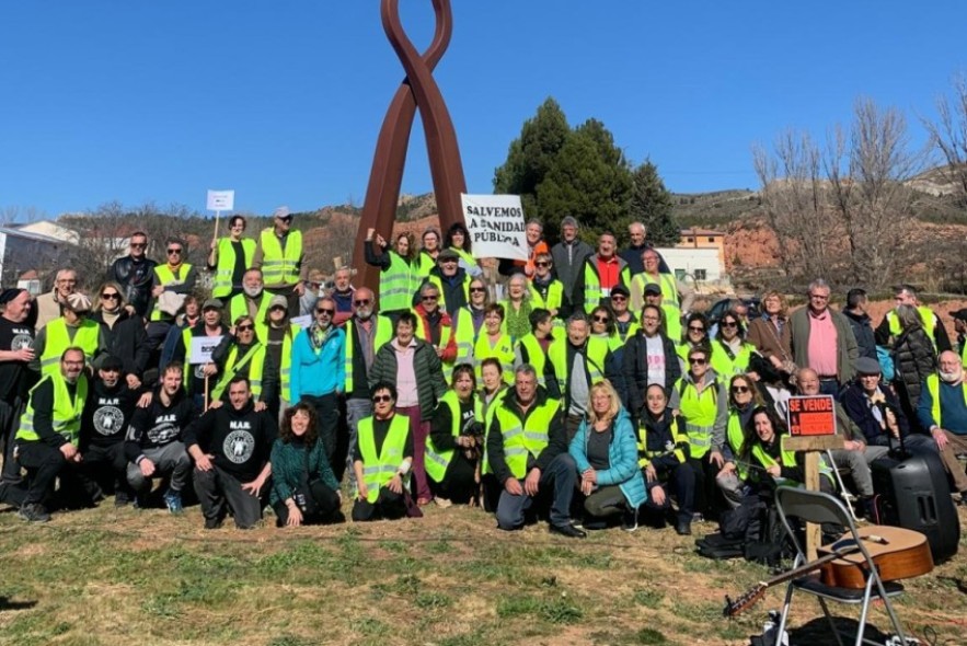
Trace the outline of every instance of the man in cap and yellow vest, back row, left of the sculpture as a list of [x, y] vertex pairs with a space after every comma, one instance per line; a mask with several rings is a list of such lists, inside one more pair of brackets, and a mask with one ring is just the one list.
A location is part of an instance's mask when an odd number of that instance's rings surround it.
[[292, 231], [289, 207], [275, 209], [273, 227], [262, 230], [252, 266], [262, 269], [265, 289], [288, 299], [289, 312], [299, 311], [309, 267], [302, 263], [302, 232]]

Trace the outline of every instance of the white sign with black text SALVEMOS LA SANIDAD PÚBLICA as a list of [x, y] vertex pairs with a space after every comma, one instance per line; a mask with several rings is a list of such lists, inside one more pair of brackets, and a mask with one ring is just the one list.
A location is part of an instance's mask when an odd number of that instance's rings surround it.
[[460, 199], [473, 257], [527, 259], [527, 233], [519, 195], [461, 193]]

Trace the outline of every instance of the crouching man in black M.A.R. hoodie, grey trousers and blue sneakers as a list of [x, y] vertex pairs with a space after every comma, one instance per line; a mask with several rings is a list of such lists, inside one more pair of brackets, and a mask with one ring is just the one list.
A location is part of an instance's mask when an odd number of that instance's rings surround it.
[[191, 420], [192, 400], [182, 388], [182, 365], [173, 361], [164, 367], [151, 405], [135, 411], [125, 438], [128, 484], [139, 506], [151, 491], [151, 478], [170, 475], [164, 505], [172, 514], [183, 511], [182, 489], [192, 473], [192, 460], [182, 432]]

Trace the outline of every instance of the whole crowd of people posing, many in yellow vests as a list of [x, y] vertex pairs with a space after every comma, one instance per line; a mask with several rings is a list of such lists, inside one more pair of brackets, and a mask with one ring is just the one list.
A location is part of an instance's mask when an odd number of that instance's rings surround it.
[[142, 233], [93, 307], [69, 269], [36, 300], [0, 295], [0, 500], [42, 521], [111, 492], [180, 512], [193, 492], [206, 527], [247, 528], [267, 507], [279, 526], [338, 521], [347, 492], [356, 521], [465, 504], [504, 530], [546, 515], [569, 538], [612, 522], [689, 534], [697, 515], [803, 482], [781, 441], [792, 393], [837, 397], [847, 441], [828, 466], [864, 504], [889, 438], [936, 451], [967, 497], [963, 360], [912, 288], [875, 331], [862, 290], [840, 313], [821, 280], [791, 315], [768, 292], [760, 315], [737, 301], [711, 330], [641, 223], [619, 252], [565, 218], [554, 245], [527, 223], [500, 298], [460, 223], [418, 252], [370, 230], [378, 291], [346, 267], [311, 297], [290, 227], [281, 209], [251, 240], [231, 218], [210, 298], [183, 243], [158, 265]]

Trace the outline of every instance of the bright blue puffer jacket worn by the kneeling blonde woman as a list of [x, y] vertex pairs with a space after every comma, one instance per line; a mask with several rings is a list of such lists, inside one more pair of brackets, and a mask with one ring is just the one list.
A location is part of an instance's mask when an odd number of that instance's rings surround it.
[[[577, 434], [571, 440], [568, 452], [577, 462], [577, 472], [584, 473], [590, 468], [588, 462], [588, 432], [594, 430], [588, 426], [587, 419], [580, 423]], [[611, 446], [608, 450], [610, 469], [598, 471], [598, 486], [605, 487], [618, 485], [624, 494], [629, 505], [640, 507], [644, 505], [647, 494], [645, 493], [645, 478], [638, 469], [638, 448], [635, 440], [634, 428], [631, 417], [622, 407], [614, 419]]]

